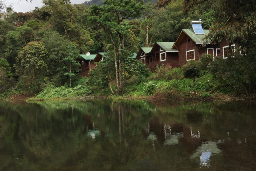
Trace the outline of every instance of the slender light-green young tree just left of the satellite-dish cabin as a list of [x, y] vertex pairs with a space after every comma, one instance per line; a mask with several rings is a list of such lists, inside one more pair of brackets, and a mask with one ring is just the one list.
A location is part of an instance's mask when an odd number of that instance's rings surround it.
[[68, 53], [67, 56], [63, 58], [63, 62], [67, 66], [64, 66], [63, 69], [66, 70], [64, 73], [65, 76], [69, 77], [69, 86], [71, 88], [71, 78], [75, 76], [75, 74], [78, 72], [78, 66], [81, 66], [81, 64], [76, 60], [80, 58], [79, 50], [75, 47], [73, 43], [69, 43], [68, 45]]

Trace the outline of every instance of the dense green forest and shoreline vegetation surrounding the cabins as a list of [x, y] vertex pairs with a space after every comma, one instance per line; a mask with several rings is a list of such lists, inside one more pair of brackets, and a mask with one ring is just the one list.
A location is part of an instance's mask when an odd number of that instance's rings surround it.
[[[59, 91], [59, 97], [124, 94], [154, 81], [156, 85], [165, 81], [165, 92], [179, 91], [170, 87], [188, 84], [180, 91], [205, 94], [218, 90], [247, 97], [255, 95], [254, 0], [92, 0], [74, 5], [69, 0], [43, 0], [43, 3], [42, 8], [22, 13], [6, 8], [0, 0], [1, 99], [11, 94], [40, 92], [43, 98], [52, 90]], [[159, 66], [155, 73], [130, 58], [140, 47], [175, 42], [181, 30], [189, 28], [191, 20], [198, 19], [202, 19], [203, 29], [210, 30], [205, 40], [213, 44], [224, 40], [237, 43], [245, 55], [215, 61], [205, 56], [183, 68]], [[79, 76], [81, 64], [77, 59], [86, 52], [107, 52], [108, 56], [90, 72], [90, 78]], [[197, 74], [186, 74], [186, 68]], [[204, 77], [206, 88], [195, 81], [185, 83], [184, 77], [187, 81]], [[214, 84], [210, 86], [209, 82]], [[160, 91], [152, 86], [153, 83], [149, 93], [144, 91], [145, 95]]]

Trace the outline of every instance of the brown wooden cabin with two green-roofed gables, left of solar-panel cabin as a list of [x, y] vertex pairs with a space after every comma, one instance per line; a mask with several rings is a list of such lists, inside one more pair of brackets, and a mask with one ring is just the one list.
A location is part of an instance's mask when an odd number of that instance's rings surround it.
[[172, 49], [173, 44], [174, 42], [156, 42], [152, 48], [141, 47], [136, 58], [144, 62], [151, 71], [154, 71], [157, 65], [163, 64], [179, 67], [178, 50]]

